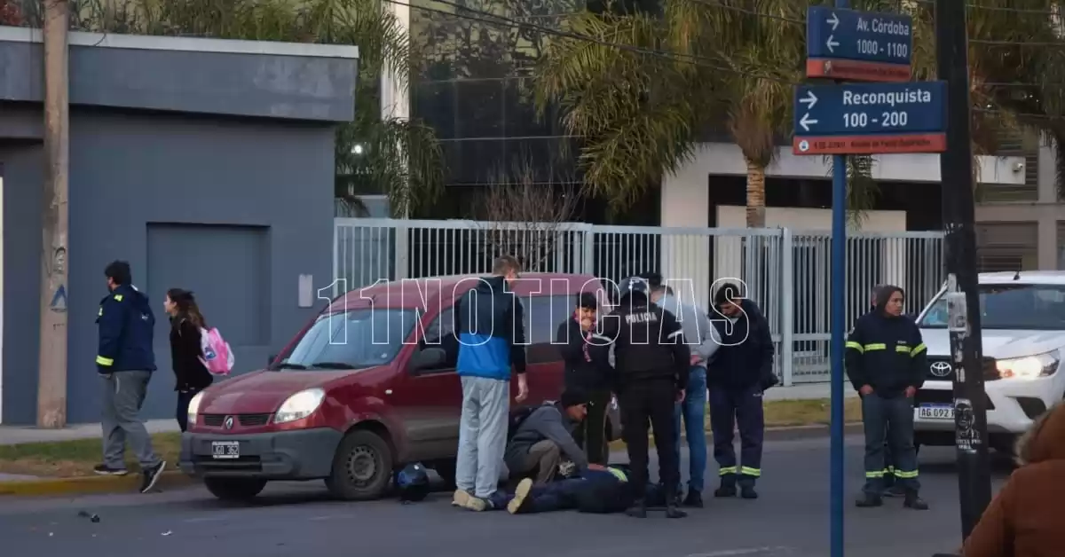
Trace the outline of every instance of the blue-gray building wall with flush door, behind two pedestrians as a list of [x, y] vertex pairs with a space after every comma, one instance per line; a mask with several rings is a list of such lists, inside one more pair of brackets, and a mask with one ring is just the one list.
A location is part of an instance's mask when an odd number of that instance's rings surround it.
[[[0, 112], [0, 122], [13, 117], [18, 116]], [[3, 422], [32, 423], [39, 324], [39, 144], [0, 143], [0, 165]], [[330, 283], [332, 169], [333, 131], [324, 122], [73, 109], [69, 421], [98, 416], [94, 321], [106, 293], [103, 267], [114, 259], [131, 263], [134, 283], [152, 297], [157, 312], [160, 370], [145, 406], [147, 417], [174, 415], [168, 325], [162, 312], [167, 288], [198, 293], [208, 320], [230, 341], [239, 372], [261, 367], [313, 314], [297, 307], [298, 276], [313, 275], [320, 288]], [[157, 252], [150, 252], [150, 243]]]

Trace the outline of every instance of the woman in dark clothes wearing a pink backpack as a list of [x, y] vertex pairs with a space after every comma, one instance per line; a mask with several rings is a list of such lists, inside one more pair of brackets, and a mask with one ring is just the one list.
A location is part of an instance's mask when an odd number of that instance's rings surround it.
[[177, 419], [181, 430], [189, 428], [189, 403], [214, 382], [215, 375], [227, 375], [233, 367], [229, 345], [218, 329], [209, 328], [192, 292], [166, 291], [163, 302], [170, 315], [170, 362], [178, 392]]

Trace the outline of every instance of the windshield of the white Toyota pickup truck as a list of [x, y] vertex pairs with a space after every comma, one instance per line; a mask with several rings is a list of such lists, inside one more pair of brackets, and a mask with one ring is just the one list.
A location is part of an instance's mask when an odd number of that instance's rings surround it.
[[[947, 299], [936, 298], [918, 326], [947, 327]], [[1065, 285], [981, 284], [980, 326], [984, 329], [1065, 329]]]

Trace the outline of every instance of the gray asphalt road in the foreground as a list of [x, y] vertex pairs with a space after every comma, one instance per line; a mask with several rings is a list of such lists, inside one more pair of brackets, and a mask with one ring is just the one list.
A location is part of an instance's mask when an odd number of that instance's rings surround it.
[[[953, 452], [922, 450], [932, 509], [887, 499], [857, 509], [861, 439], [848, 437], [847, 555], [931, 557], [960, 541]], [[277, 484], [253, 505], [215, 501], [201, 488], [76, 499], [0, 499], [0, 543], [13, 556], [112, 557], [824, 557], [829, 553], [825, 438], [767, 443], [757, 501], [708, 499], [685, 520], [556, 512], [512, 517], [424, 503], [329, 501], [321, 484]], [[687, 464], [685, 464], [687, 465]], [[712, 474], [716, 465], [711, 466]], [[998, 462], [997, 485], [1009, 474]], [[96, 513], [93, 523], [79, 511]]]

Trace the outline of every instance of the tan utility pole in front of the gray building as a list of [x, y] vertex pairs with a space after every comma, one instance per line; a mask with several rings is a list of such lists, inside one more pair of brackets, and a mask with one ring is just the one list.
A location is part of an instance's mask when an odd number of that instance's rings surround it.
[[37, 427], [66, 426], [69, 0], [45, 0], [45, 203], [42, 214]]

